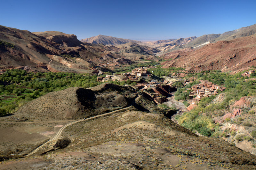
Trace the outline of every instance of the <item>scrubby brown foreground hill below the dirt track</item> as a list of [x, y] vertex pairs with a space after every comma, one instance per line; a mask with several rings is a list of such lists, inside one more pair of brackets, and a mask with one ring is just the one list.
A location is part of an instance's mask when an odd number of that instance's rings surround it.
[[[53, 122], [56, 127], [62, 122]], [[16, 123], [17, 124], [17, 123]], [[36, 123], [33, 123], [35, 125]], [[44, 126], [42, 123], [42, 126]], [[34, 131], [38, 131], [37, 129]], [[51, 125], [51, 124], [50, 124]], [[20, 126], [26, 126], [25, 123]], [[26, 126], [26, 131], [31, 131]], [[33, 126], [32, 126], [33, 127]], [[31, 125], [30, 125], [31, 128]], [[25, 129], [24, 127], [20, 129]], [[53, 129], [53, 128], [52, 128]], [[6, 129], [4, 129], [6, 130]], [[52, 132], [52, 131], [50, 131]], [[25, 134], [23, 134], [25, 135]], [[38, 134], [39, 135], [39, 134]], [[44, 156], [12, 159], [0, 168], [13, 169], [255, 169], [256, 156], [223, 139], [197, 136], [163, 115], [131, 109], [69, 126], [66, 148]], [[34, 139], [30, 137], [31, 139]], [[52, 149], [48, 144], [39, 153]], [[24, 145], [24, 144], [23, 144]], [[28, 153], [28, 145], [4, 153]], [[9, 155], [8, 155], [9, 156]]]

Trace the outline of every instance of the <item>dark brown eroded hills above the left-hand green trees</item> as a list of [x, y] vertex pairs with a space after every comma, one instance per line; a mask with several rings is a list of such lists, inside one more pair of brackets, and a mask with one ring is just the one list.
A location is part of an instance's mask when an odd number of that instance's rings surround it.
[[83, 43], [74, 34], [31, 33], [0, 26], [0, 68], [92, 73], [87, 69], [94, 62], [132, 63], [118, 50], [114, 46]]

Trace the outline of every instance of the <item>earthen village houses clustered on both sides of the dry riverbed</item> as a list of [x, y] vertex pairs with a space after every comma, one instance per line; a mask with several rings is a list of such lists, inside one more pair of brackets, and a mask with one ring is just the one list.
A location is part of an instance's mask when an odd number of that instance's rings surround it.
[[[125, 81], [130, 80], [137, 82], [135, 87], [140, 90], [148, 93], [157, 103], [162, 103], [167, 101], [167, 98], [170, 92], [176, 91], [177, 89], [172, 87], [173, 82], [170, 78], [180, 81], [183, 85], [187, 85], [191, 81], [186, 79], [178, 78], [176, 75], [165, 78], [164, 81], [159, 81], [156, 79], [149, 78], [152, 76], [152, 73], [148, 71], [148, 67], [139, 67], [133, 69], [131, 72], [125, 72], [120, 74], [106, 75], [106, 77], [97, 77], [97, 81]], [[253, 72], [253, 71], [251, 71]], [[248, 73], [251, 74], [251, 73]], [[143, 81], [139, 81], [143, 79]], [[146, 81], [147, 80], [147, 81]], [[191, 88], [187, 88], [185, 92], [189, 92], [190, 101], [199, 101], [204, 97], [209, 97], [212, 95], [218, 94], [218, 90], [221, 92], [224, 91], [226, 87], [222, 87], [216, 84], [213, 84], [210, 81], [202, 81], [198, 85], [193, 85]], [[194, 102], [193, 102], [194, 103]]]

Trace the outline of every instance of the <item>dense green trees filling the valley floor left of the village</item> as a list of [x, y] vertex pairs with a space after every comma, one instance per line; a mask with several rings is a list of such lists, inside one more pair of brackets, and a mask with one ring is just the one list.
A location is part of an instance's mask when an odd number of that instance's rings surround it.
[[[74, 86], [88, 88], [102, 83], [96, 80], [97, 75], [6, 70], [4, 74], [0, 75], [0, 116], [13, 113], [27, 101], [36, 99], [48, 92], [64, 90]], [[130, 80], [110, 82], [118, 85], [136, 85], [135, 82]]]

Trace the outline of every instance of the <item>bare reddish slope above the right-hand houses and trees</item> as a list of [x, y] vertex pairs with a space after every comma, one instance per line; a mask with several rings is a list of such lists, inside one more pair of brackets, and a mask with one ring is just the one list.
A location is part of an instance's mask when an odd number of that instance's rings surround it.
[[183, 67], [187, 70], [239, 70], [256, 64], [256, 35], [231, 41], [217, 41], [200, 49], [183, 49], [164, 55], [172, 59], [164, 68]]

